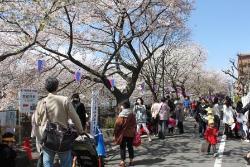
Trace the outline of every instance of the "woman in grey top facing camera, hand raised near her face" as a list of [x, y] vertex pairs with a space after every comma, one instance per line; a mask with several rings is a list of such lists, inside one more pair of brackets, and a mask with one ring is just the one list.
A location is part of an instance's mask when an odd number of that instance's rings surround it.
[[145, 130], [145, 132], [148, 135], [148, 141], [152, 141], [150, 137], [150, 132], [147, 128], [147, 111], [146, 111], [146, 106], [143, 104], [143, 99], [142, 98], [137, 98], [136, 103], [133, 109], [133, 112], [136, 115], [136, 123], [137, 123], [137, 132], [140, 132], [141, 126]]

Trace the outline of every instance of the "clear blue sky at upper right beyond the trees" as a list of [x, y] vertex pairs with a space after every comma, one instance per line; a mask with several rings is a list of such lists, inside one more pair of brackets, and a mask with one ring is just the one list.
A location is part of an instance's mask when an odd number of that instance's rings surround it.
[[237, 53], [250, 53], [250, 0], [196, 0], [191, 38], [208, 53], [206, 68], [229, 67]]

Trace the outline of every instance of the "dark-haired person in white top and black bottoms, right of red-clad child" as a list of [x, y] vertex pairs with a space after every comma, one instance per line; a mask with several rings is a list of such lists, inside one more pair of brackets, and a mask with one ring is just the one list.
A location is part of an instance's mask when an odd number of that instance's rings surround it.
[[231, 105], [231, 100], [226, 98], [223, 106], [223, 123], [224, 123], [224, 134], [227, 137], [233, 137], [231, 125], [234, 123], [234, 110]]

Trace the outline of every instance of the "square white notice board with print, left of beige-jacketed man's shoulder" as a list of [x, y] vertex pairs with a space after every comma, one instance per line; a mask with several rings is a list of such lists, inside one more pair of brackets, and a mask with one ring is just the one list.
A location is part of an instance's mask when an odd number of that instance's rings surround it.
[[20, 112], [34, 112], [38, 101], [38, 92], [35, 89], [21, 89], [19, 91]]

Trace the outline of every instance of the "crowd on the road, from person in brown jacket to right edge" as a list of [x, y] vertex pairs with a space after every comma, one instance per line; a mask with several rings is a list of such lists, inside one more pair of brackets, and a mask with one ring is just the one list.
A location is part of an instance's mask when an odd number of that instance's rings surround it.
[[[199, 98], [198, 100], [190, 100], [189, 97], [180, 100], [167, 96], [151, 106], [145, 106], [143, 99], [137, 98], [131, 108], [128, 108], [127, 104], [122, 105], [121, 108], [114, 133], [115, 140], [120, 140], [117, 144], [121, 149], [120, 166], [122, 167], [126, 164], [126, 144], [130, 158], [129, 165], [133, 166], [133, 138], [136, 133], [145, 133], [148, 142], [152, 141], [152, 136], [164, 140], [167, 135], [183, 134], [183, 124], [188, 118], [195, 120], [193, 128], [198, 128], [199, 137], [206, 141], [208, 155], [218, 156], [216, 144], [219, 141], [219, 135], [226, 135], [229, 140], [234, 138], [249, 142], [250, 103], [243, 108], [241, 101], [234, 105], [228, 96]], [[125, 111], [127, 115], [124, 115]], [[129, 119], [128, 115], [130, 115]], [[250, 162], [250, 154], [245, 159]]]

